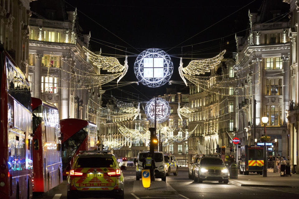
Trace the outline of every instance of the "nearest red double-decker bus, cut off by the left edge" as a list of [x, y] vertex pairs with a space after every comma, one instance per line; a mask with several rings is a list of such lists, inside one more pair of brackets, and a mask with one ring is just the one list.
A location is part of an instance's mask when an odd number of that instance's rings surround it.
[[0, 49], [0, 198], [32, 198], [30, 84]]

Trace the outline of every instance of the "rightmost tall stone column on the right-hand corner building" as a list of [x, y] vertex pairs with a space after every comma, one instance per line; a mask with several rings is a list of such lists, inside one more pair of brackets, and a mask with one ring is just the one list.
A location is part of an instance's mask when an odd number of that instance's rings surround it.
[[283, 110], [282, 110], [282, 118], [284, 125], [287, 125], [287, 110], [289, 109], [289, 84], [290, 84], [290, 70], [289, 70], [289, 56], [283, 55], [282, 59], [282, 67], [283, 67], [283, 88], [282, 88], [282, 97], [283, 97]]

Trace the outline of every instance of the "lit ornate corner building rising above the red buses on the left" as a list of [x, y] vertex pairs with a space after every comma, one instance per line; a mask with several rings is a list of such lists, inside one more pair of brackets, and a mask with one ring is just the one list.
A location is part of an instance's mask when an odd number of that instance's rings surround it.
[[[55, 104], [60, 119], [81, 118], [97, 123], [93, 111], [101, 104], [103, 91], [87, 79], [99, 71], [89, 63], [82, 49], [88, 48], [90, 33], [82, 34], [76, 9], [67, 11], [61, 3], [64, 5], [59, 0], [31, 3], [34, 13], [29, 35], [31, 95]], [[47, 9], [41, 9], [44, 7]], [[88, 106], [93, 108], [89, 112]]]

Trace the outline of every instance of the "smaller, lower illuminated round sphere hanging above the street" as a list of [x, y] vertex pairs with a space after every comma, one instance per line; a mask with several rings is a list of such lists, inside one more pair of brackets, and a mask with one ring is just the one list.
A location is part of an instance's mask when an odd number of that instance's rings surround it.
[[[145, 106], [146, 117], [151, 121], [155, 121], [155, 98], [151, 99]], [[163, 98], [157, 98], [156, 117], [157, 123], [165, 122], [170, 115], [170, 106], [168, 101]]]

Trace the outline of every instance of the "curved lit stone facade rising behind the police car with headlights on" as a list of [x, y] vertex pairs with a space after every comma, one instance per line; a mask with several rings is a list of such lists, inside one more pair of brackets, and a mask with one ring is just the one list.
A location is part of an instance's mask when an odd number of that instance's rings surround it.
[[[188, 160], [195, 154], [215, 153], [217, 145], [229, 147], [229, 138], [235, 132], [233, 59], [223, 59], [211, 75], [198, 86], [190, 85], [189, 107], [194, 111], [189, 117], [189, 132], [196, 126], [188, 140]], [[221, 95], [223, 94], [223, 95]]]

